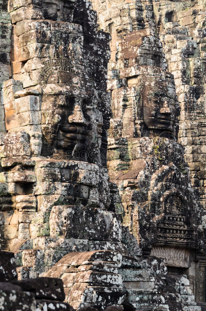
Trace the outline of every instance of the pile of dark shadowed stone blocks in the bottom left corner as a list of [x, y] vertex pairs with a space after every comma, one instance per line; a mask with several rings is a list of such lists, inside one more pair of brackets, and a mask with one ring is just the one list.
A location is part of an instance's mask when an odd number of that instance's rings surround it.
[[38, 280], [17, 281], [13, 253], [0, 252], [0, 307], [2, 310], [65, 310], [73, 308], [63, 302], [63, 283], [59, 279], [39, 278]]

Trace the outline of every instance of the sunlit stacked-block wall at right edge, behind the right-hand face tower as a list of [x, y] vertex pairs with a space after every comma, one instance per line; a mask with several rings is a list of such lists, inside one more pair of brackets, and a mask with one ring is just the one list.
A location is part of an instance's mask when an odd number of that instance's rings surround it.
[[[190, 177], [199, 200], [205, 206], [204, 195], [204, 3], [192, 5], [185, 2], [180, 10], [171, 6], [172, 21], [163, 16], [160, 39], [166, 51], [168, 69], [174, 74], [176, 93], [180, 102], [180, 142], [185, 146], [185, 160], [190, 167]], [[155, 12], [159, 3], [155, 2]], [[166, 23], [165, 23], [166, 22]]]

